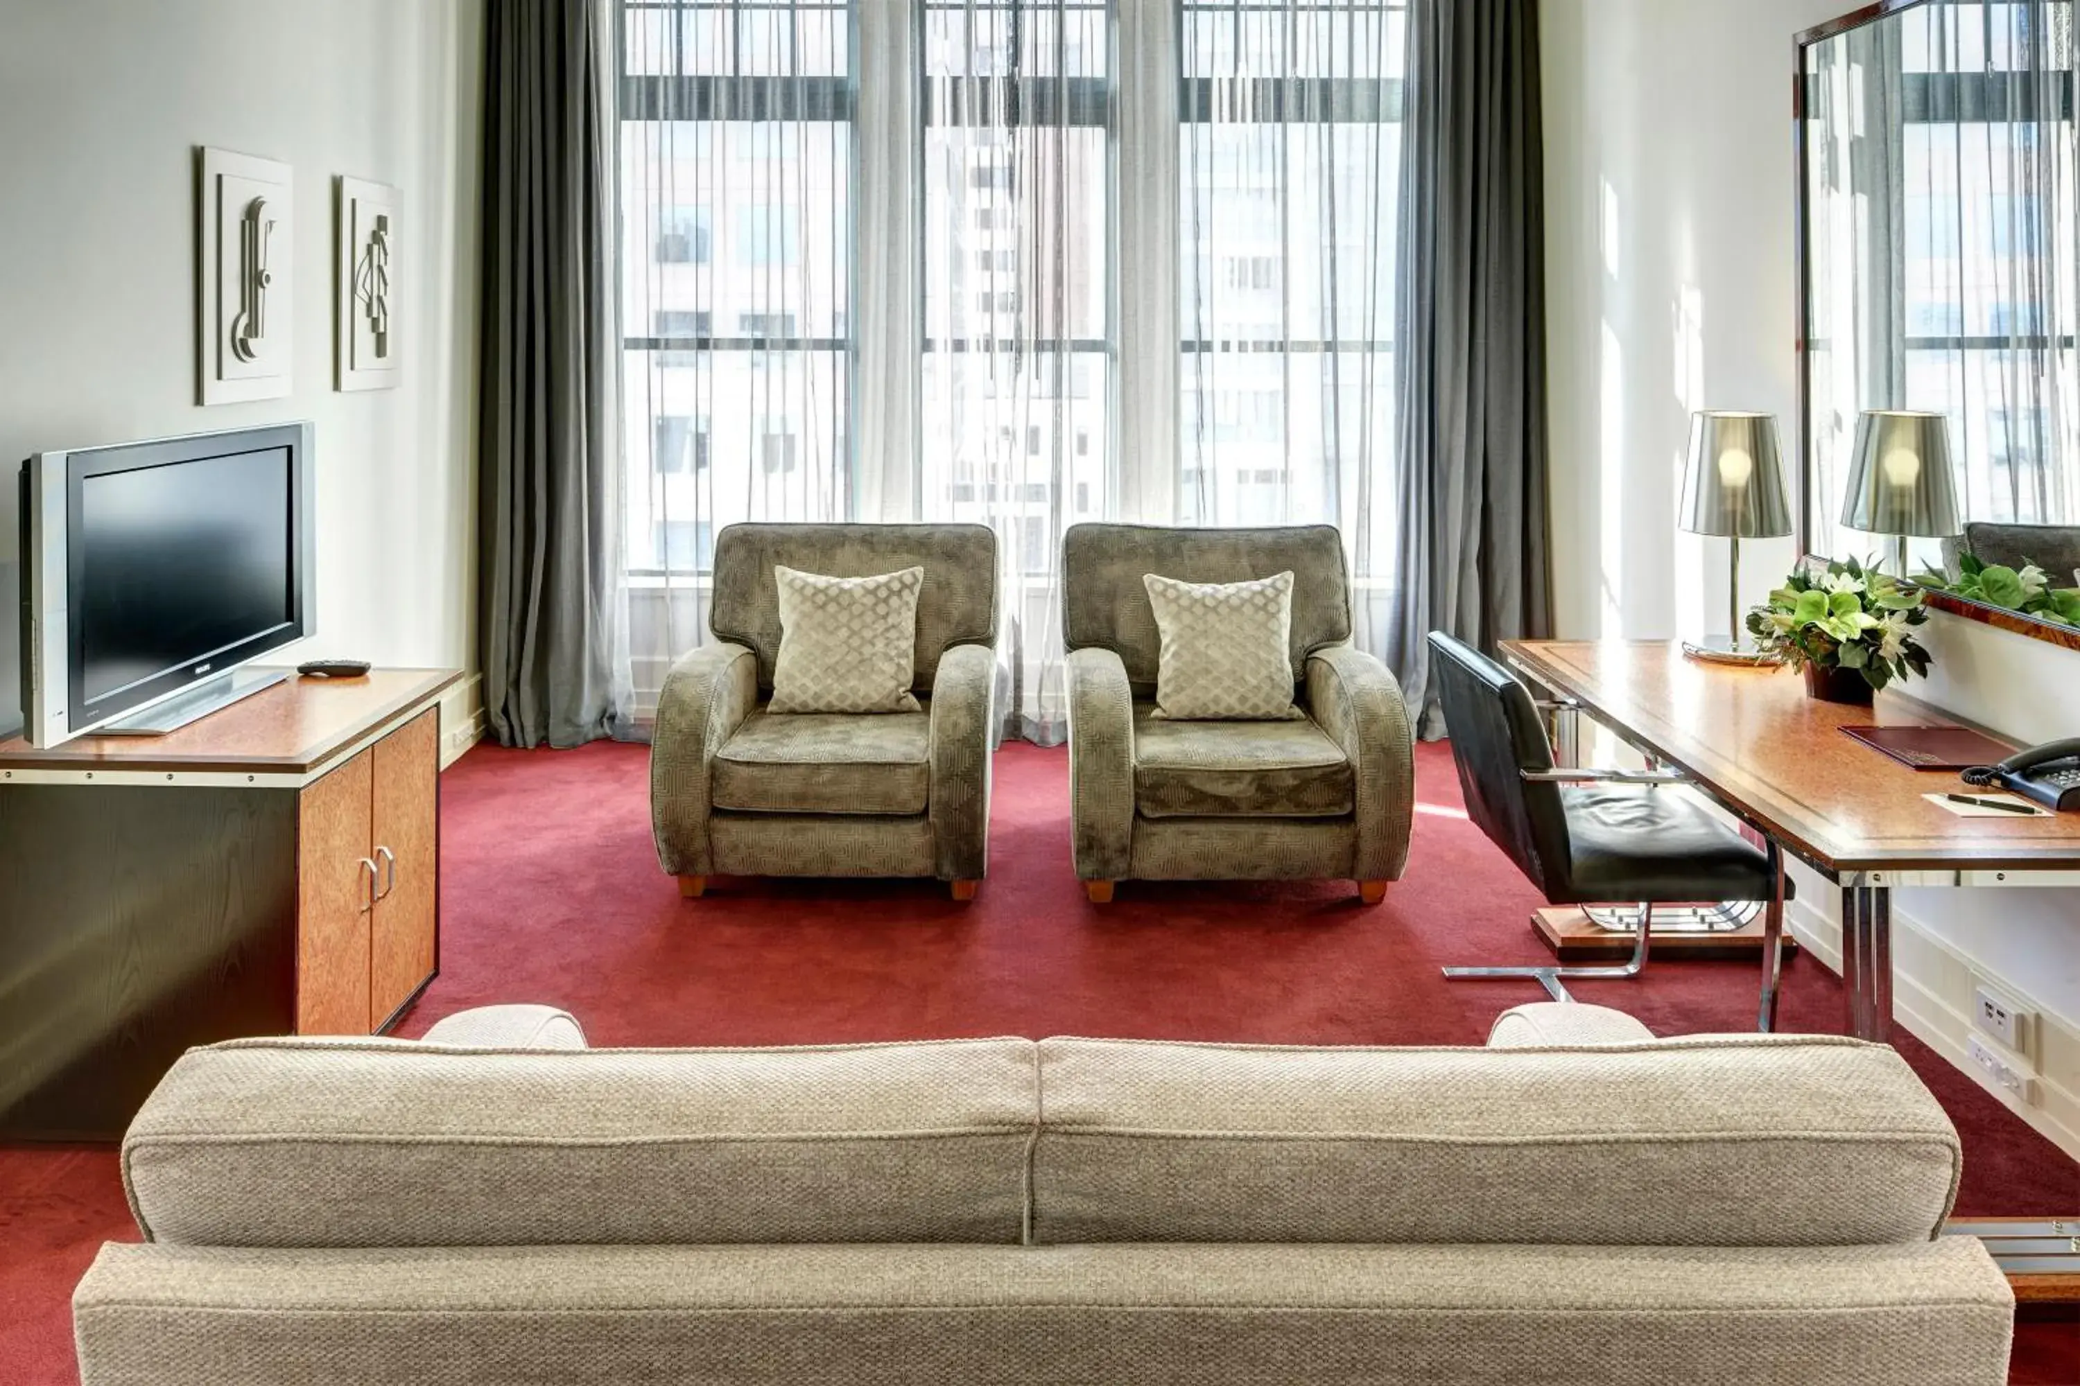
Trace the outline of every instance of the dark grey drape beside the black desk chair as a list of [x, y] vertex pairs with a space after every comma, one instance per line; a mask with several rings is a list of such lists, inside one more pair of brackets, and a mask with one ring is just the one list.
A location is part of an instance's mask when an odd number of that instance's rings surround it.
[[1552, 628], [1535, 0], [1408, 10], [1396, 330], [1400, 582], [1383, 657], [1444, 734], [1431, 630]]

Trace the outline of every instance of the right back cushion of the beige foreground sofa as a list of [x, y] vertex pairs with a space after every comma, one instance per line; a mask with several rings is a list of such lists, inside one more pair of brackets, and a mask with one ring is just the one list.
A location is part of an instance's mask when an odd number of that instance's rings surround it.
[[1957, 1132], [1889, 1047], [1048, 1039], [1038, 1243], [1926, 1241]]

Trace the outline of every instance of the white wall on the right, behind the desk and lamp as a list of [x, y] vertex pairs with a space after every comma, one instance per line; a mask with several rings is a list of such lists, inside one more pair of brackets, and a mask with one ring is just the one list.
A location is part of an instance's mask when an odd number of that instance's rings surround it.
[[[1849, 8], [1541, 0], [1562, 636], [1724, 628], [1724, 540], [1676, 532], [1689, 414], [1768, 409], [1795, 445], [1793, 35]], [[1797, 555], [1745, 549], [1756, 603]], [[2080, 655], [1941, 615], [1928, 630], [1918, 696], [2026, 742], [2074, 731], [2059, 690]], [[1799, 889], [1795, 929], [1835, 966], [1837, 891], [1812, 873]], [[2080, 891], [1901, 891], [1895, 927], [1899, 1018], [1959, 1066], [1974, 977], [2047, 1018], [2024, 1114], [2080, 1155]]]

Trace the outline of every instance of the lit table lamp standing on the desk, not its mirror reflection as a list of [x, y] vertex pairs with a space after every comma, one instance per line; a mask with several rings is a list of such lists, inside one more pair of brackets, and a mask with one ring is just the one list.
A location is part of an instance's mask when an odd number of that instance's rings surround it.
[[1689, 468], [1683, 474], [1683, 528], [1733, 540], [1726, 576], [1726, 640], [1683, 644], [1683, 652], [1722, 665], [1760, 665], [1772, 657], [1741, 634], [1741, 540], [1791, 534], [1785, 463], [1776, 418], [1737, 409], [1691, 416]]

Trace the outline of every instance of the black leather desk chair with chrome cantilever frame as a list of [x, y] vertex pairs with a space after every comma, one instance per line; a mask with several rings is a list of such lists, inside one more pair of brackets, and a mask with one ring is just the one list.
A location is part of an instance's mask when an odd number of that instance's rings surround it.
[[1620, 966], [1462, 966], [1452, 979], [1525, 977], [1556, 1002], [1566, 981], [1637, 977], [1656, 904], [1756, 900], [1764, 906], [1758, 1029], [1776, 1024], [1776, 977], [1789, 881], [1772, 842], [1758, 848], [1666, 785], [1681, 775], [1554, 767], [1531, 692], [1462, 640], [1431, 632], [1431, 677], [1444, 702], [1471, 817], [1552, 904], [1639, 904], [1633, 958]]

